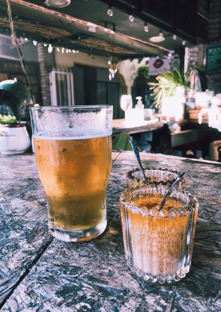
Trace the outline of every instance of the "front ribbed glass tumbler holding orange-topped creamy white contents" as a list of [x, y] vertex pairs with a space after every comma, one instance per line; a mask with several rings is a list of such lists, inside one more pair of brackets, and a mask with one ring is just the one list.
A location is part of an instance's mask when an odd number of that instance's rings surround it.
[[151, 284], [173, 283], [189, 272], [198, 202], [175, 189], [162, 209], [165, 185], [127, 189], [120, 196], [125, 255], [128, 266]]

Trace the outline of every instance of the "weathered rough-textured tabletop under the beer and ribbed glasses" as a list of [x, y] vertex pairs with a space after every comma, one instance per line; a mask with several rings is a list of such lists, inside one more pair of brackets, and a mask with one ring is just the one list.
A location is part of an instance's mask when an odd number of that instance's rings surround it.
[[126, 264], [119, 197], [133, 152], [113, 152], [107, 228], [83, 243], [48, 232], [35, 155], [0, 154], [0, 311], [220, 312], [221, 164], [140, 153], [143, 167], [185, 171], [185, 189], [199, 201], [190, 272], [168, 286], [139, 280]]

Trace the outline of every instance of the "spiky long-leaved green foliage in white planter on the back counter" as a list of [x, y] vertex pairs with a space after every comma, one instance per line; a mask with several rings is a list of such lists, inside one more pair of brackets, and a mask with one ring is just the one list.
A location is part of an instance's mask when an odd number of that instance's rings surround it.
[[154, 97], [153, 105], [160, 109], [162, 105], [162, 99], [164, 97], [170, 97], [176, 95], [176, 87], [184, 86], [190, 88], [190, 80], [194, 73], [194, 69], [189, 66], [188, 70], [184, 72], [184, 63], [181, 63], [180, 59], [177, 61], [177, 66], [173, 63], [170, 64], [170, 70], [163, 72], [156, 77], [158, 82], [149, 82], [148, 85], [153, 89], [152, 95]]

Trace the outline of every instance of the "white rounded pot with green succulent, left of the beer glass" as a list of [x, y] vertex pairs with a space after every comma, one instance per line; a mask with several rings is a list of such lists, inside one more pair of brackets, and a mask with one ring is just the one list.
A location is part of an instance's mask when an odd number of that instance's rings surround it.
[[15, 116], [0, 114], [0, 152], [21, 154], [31, 145], [25, 121], [17, 121]]

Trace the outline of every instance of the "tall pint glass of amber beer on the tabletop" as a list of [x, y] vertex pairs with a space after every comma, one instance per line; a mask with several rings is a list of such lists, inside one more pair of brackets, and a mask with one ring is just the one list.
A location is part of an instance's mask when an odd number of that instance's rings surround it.
[[30, 108], [49, 231], [60, 241], [88, 241], [106, 228], [112, 110], [111, 105]]

